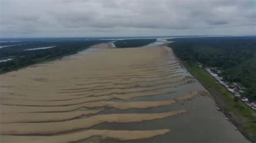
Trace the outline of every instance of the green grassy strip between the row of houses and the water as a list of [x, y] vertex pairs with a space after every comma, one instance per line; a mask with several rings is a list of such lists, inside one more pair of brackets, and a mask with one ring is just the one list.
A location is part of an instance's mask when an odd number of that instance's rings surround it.
[[247, 139], [256, 140], [256, 112], [248, 108], [244, 103], [235, 102], [233, 95], [204, 69], [199, 69], [195, 63], [183, 61], [184, 66], [214, 97], [215, 102], [225, 115], [232, 121], [238, 130]]

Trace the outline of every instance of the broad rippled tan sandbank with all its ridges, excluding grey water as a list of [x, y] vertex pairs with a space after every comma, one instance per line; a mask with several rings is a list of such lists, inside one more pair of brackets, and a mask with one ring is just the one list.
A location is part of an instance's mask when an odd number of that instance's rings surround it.
[[106, 44], [93, 47], [103, 49], [0, 75], [2, 142], [73, 142], [95, 136], [100, 140], [151, 138], [170, 129], [91, 128], [103, 123], [140, 124], [182, 116], [187, 112], [184, 109], [160, 113], [105, 114], [104, 111], [157, 108], [208, 94], [196, 90], [165, 101], [126, 102], [136, 97], [172, 96], [175, 88], [194, 79], [183, 75], [180, 63], [167, 47], [112, 49]]

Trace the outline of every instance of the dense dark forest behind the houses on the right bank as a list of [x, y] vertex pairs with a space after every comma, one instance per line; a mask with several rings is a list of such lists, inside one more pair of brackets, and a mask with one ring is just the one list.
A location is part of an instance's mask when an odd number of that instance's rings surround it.
[[177, 38], [169, 46], [188, 62], [220, 69], [225, 80], [241, 83], [256, 101], [256, 37]]

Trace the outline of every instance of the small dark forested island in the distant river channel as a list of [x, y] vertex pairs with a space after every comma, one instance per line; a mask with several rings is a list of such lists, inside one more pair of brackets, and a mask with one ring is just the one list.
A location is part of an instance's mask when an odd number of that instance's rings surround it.
[[127, 39], [114, 42], [117, 48], [141, 47], [156, 42], [157, 39]]

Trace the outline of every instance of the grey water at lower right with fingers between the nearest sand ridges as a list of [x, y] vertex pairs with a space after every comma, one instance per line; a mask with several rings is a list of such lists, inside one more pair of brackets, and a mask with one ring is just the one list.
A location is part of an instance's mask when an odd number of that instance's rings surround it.
[[[156, 113], [186, 109], [188, 113], [163, 119], [143, 121], [142, 123], [106, 123], [93, 128], [111, 128], [112, 130], [157, 130], [170, 128], [171, 132], [158, 137], [118, 141], [107, 139], [103, 142], [248, 142], [234, 125], [225, 120], [223, 113], [216, 110], [214, 101], [208, 97], [197, 97], [184, 104], [173, 104], [145, 110], [130, 109], [123, 113]], [[108, 113], [120, 112], [114, 109]], [[105, 112], [106, 113], [106, 112]]]

